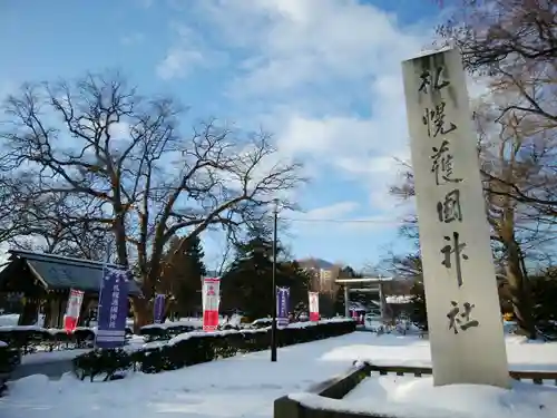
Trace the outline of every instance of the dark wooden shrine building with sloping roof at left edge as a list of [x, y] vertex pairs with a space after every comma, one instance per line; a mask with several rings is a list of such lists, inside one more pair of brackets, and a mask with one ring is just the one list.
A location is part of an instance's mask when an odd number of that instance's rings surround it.
[[[121, 269], [90, 260], [10, 250], [9, 264], [0, 271], [0, 298], [19, 297], [23, 311], [20, 325], [33, 324], [38, 314], [45, 314], [45, 328], [61, 328], [70, 289], [82, 290], [80, 323], [98, 302], [102, 268]], [[129, 295], [141, 292], [136, 281]]]

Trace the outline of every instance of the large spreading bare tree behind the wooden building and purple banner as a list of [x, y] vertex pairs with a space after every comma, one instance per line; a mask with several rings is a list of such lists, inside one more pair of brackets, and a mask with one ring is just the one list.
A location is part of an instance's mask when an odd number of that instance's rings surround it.
[[62, 196], [68, 220], [109, 229], [117, 261], [140, 275], [137, 327], [149, 321], [172, 236], [180, 232], [186, 245], [207, 227], [257, 222], [302, 181], [300, 165], [280, 162], [267, 134], [209, 120], [185, 137], [173, 100], [144, 98], [118, 75], [23, 86], [4, 115], [4, 169], [25, 166], [33, 198]]

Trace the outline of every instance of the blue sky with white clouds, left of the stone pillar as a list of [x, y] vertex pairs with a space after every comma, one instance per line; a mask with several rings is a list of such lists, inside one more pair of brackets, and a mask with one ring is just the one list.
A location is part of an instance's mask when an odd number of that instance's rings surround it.
[[[430, 45], [439, 12], [432, 0], [2, 1], [0, 95], [119, 68], [192, 118], [261, 125], [312, 177], [296, 194], [305, 212], [287, 215], [292, 252], [362, 266], [407, 247], [409, 207], [388, 195], [408, 158], [400, 61]], [[205, 246], [212, 264], [219, 241]]]

